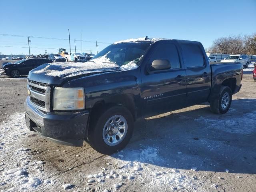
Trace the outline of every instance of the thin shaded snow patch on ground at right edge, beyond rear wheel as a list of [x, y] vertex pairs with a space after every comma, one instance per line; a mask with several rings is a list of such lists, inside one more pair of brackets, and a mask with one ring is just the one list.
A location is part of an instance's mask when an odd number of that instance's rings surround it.
[[252, 111], [239, 117], [225, 116], [224, 120], [208, 119], [205, 116], [200, 116], [196, 118], [195, 121], [204, 123], [206, 128], [209, 129], [217, 128], [220, 131], [229, 133], [250, 134], [255, 131], [255, 128], [252, 126], [255, 122], [255, 116], [256, 111]]

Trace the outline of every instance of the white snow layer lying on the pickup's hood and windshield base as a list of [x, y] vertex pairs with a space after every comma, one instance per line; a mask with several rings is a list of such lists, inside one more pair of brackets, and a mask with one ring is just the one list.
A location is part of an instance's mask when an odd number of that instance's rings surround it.
[[[108, 53], [107, 53], [108, 54]], [[119, 66], [118, 64], [111, 62], [107, 57], [107, 54], [96, 58], [94, 60], [84, 62], [84, 63], [54, 63], [54, 64], [45, 64], [44, 68], [35, 70], [34, 74], [45, 73], [47, 76], [54, 77], [71, 77], [80, 74], [88, 74], [93, 72], [104, 72], [110, 70], [132, 70], [138, 68], [138, 65], [135, 62], [138, 62], [138, 59], [129, 62], [126, 65]], [[39, 67], [40, 68], [40, 67]]]

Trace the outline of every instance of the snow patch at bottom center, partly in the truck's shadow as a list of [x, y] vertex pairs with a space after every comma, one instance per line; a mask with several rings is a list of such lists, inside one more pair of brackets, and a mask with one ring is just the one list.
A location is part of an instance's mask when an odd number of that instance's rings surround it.
[[[119, 159], [118, 155], [106, 157], [107, 161], [112, 161], [117, 168], [106, 172], [106, 179], [109, 175], [114, 175], [115, 171], [119, 177], [114, 181], [127, 178], [136, 182], [147, 182], [144, 186], [145, 191], [155, 191], [156, 189], [166, 188], [175, 190], [193, 191], [196, 188], [196, 180], [182, 174], [180, 170], [174, 168], [164, 168], [165, 161], [158, 155], [157, 148], [146, 146], [140, 150], [124, 150], [125, 156]], [[154, 162], [154, 164], [151, 164]], [[156, 166], [156, 164], [158, 166]], [[162, 165], [159, 166], [159, 165]], [[116, 188], [115, 184], [115, 188]]]

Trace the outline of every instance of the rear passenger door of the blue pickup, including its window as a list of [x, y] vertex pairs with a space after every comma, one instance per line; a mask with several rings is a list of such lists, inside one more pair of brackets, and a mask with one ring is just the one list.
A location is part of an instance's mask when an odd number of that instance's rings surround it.
[[206, 102], [210, 94], [211, 69], [200, 43], [182, 43], [182, 56], [186, 70], [187, 104]]

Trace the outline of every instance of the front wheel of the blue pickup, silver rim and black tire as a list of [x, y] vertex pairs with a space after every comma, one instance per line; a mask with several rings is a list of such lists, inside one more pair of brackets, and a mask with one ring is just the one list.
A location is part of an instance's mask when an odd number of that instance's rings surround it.
[[134, 120], [130, 111], [123, 106], [114, 106], [92, 120], [88, 142], [96, 151], [112, 154], [128, 144], [133, 128]]

